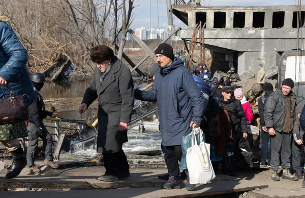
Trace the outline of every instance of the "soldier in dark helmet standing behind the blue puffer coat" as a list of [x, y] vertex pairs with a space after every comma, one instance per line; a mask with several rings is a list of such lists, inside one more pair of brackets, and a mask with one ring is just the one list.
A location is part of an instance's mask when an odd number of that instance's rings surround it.
[[35, 102], [27, 107], [28, 111], [28, 124], [26, 126], [28, 132], [28, 146], [26, 152], [27, 166], [35, 174], [40, 172], [40, 169], [35, 166], [34, 158], [35, 152], [38, 147], [38, 138], [43, 140], [43, 145], [45, 147], [45, 160], [44, 164], [51, 166], [52, 168], [57, 168], [58, 165], [53, 162], [52, 156], [52, 136], [44, 126], [42, 120], [47, 116], [52, 116], [53, 113], [45, 110], [45, 105], [43, 98], [39, 91], [44, 86], [46, 78], [42, 73], [35, 73], [31, 77], [32, 84], [35, 91]]

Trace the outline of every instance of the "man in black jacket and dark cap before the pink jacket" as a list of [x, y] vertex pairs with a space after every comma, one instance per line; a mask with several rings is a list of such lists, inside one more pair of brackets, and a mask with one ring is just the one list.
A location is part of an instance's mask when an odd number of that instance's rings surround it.
[[[238, 157], [238, 134], [242, 133], [243, 138], [248, 136], [247, 120], [245, 116], [245, 111], [241, 106], [239, 100], [236, 100], [232, 94], [232, 89], [229, 86], [222, 88], [222, 96], [220, 97], [219, 104], [227, 108], [228, 114], [230, 116], [230, 121], [232, 125], [233, 142], [229, 146], [229, 151], [234, 153], [235, 160]], [[234, 176], [233, 169], [229, 170], [230, 175]]]

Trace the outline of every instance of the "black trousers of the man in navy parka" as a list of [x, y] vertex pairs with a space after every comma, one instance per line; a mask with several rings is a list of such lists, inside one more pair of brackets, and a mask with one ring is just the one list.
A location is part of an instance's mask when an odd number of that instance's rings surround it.
[[163, 147], [168, 174], [179, 176], [179, 163], [182, 157], [181, 145]]

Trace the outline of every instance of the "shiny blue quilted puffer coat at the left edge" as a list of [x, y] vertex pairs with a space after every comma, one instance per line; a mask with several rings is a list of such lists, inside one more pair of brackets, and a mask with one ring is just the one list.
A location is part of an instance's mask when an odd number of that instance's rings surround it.
[[[4, 78], [15, 95], [26, 94], [25, 105], [35, 100], [34, 88], [26, 67], [27, 51], [11, 26], [0, 21], [0, 77]], [[0, 99], [9, 98], [6, 85], [0, 86]]]

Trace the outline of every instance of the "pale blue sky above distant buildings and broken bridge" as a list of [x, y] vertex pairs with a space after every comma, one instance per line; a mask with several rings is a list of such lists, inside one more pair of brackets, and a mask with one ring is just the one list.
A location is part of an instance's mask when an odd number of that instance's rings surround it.
[[[297, 0], [204, 0], [204, 6], [282, 6], [297, 5], [297, 2]], [[138, 7], [133, 11], [135, 20], [131, 24], [132, 29], [141, 26], [164, 29], [167, 26], [166, 0], [134, 0], [134, 5]], [[187, 27], [176, 17], [173, 21], [175, 25]]]

